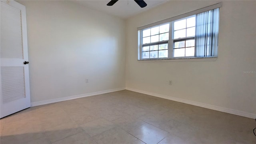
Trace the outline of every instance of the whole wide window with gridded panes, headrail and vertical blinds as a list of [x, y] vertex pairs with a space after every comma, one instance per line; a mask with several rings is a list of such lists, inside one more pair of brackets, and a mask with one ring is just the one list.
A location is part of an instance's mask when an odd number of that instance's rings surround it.
[[138, 28], [138, 59], [217, 57], [220, 5], [216, 5]]

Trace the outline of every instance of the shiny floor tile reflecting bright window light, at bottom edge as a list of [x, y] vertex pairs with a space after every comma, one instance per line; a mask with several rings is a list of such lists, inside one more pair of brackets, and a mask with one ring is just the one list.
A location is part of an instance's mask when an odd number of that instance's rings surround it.
[[146, 144], [157, 144], [169, 134], [168, 132], [150, 124], [142, 124], [129, 133]]

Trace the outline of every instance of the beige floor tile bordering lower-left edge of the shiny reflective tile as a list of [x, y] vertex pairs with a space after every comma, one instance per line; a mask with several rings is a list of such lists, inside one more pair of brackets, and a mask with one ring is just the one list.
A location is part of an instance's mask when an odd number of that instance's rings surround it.
[[112, 128], [92, 138], [98, 144], [127, 144], [137, 139], [121, 128]]

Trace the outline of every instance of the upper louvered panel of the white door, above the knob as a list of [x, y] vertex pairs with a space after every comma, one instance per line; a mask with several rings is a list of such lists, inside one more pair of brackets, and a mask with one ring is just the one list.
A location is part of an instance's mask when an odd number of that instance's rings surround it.
[[1, 58], [22, 58], [22, 21], [21, 11], [1, 3]]

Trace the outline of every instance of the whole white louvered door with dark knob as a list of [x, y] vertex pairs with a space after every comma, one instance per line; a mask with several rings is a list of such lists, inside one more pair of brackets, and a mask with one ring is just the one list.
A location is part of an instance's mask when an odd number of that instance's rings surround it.
[[0, 2], [0, 118], [30, 107], [26, 8]]

